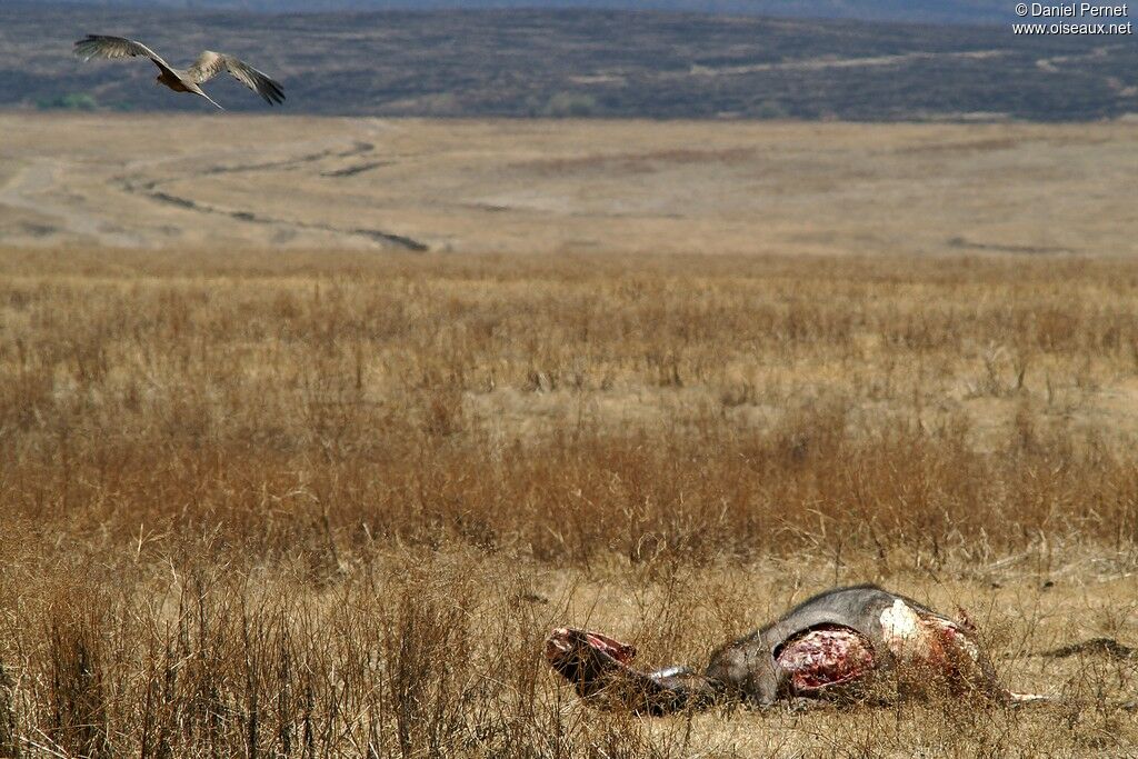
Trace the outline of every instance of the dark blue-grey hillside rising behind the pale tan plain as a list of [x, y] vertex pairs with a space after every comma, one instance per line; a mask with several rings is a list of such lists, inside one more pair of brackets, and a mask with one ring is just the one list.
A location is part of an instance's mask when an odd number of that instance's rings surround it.
[[[1131, 38], [603, 10], [258, 15], [0, 3], [0, 106], [209, 106], [141, 60], [82, 63], [85, 33], [175, 65], [204, 48], [284, 83], [291, 113], [1072, 121], [1138, 110]], [[226, 108], [265, 106], [223, 77]]]

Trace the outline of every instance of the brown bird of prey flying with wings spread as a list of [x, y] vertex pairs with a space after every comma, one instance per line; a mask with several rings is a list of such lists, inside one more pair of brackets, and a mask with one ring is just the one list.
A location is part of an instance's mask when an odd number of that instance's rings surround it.
[[[234, 58], [233, 56], [226, 56], [223, 52], [205, 50], [200, 56], [198, 56], [198, 59], [193, 61], [192, 66], [185, 71], [179, 71], [178, 68], [171, 67], [170, 64], [162, 59], [162, 56], [141, 42], [127, 40], [124, 36], [88, 34], [84, 39], [75, 43], [75, 55], [82, 56], [84, 60], [90, 60], [91, 58], [131, 58], [134, 56], [146, 56], [152, 60], [154, 65], [162, 72], [157, 80], [155, 80], [156, 84], [165, 84], [174, 92], [192, 92], [193, 94], [200, 94], [218, 108], [221, 108], [221, 106], [218, 106], [213, 98], [203, 92], [200, 85], [212, 80], [222, 71], [228, 71], [233, 75], [233, 79], [259, 94], [269, 105], [284, 101], [284, 91], [281, 89], [280, 82], [270, 79], [244, 60]], [[224, 108], [221, 109], [224, 110]]]

